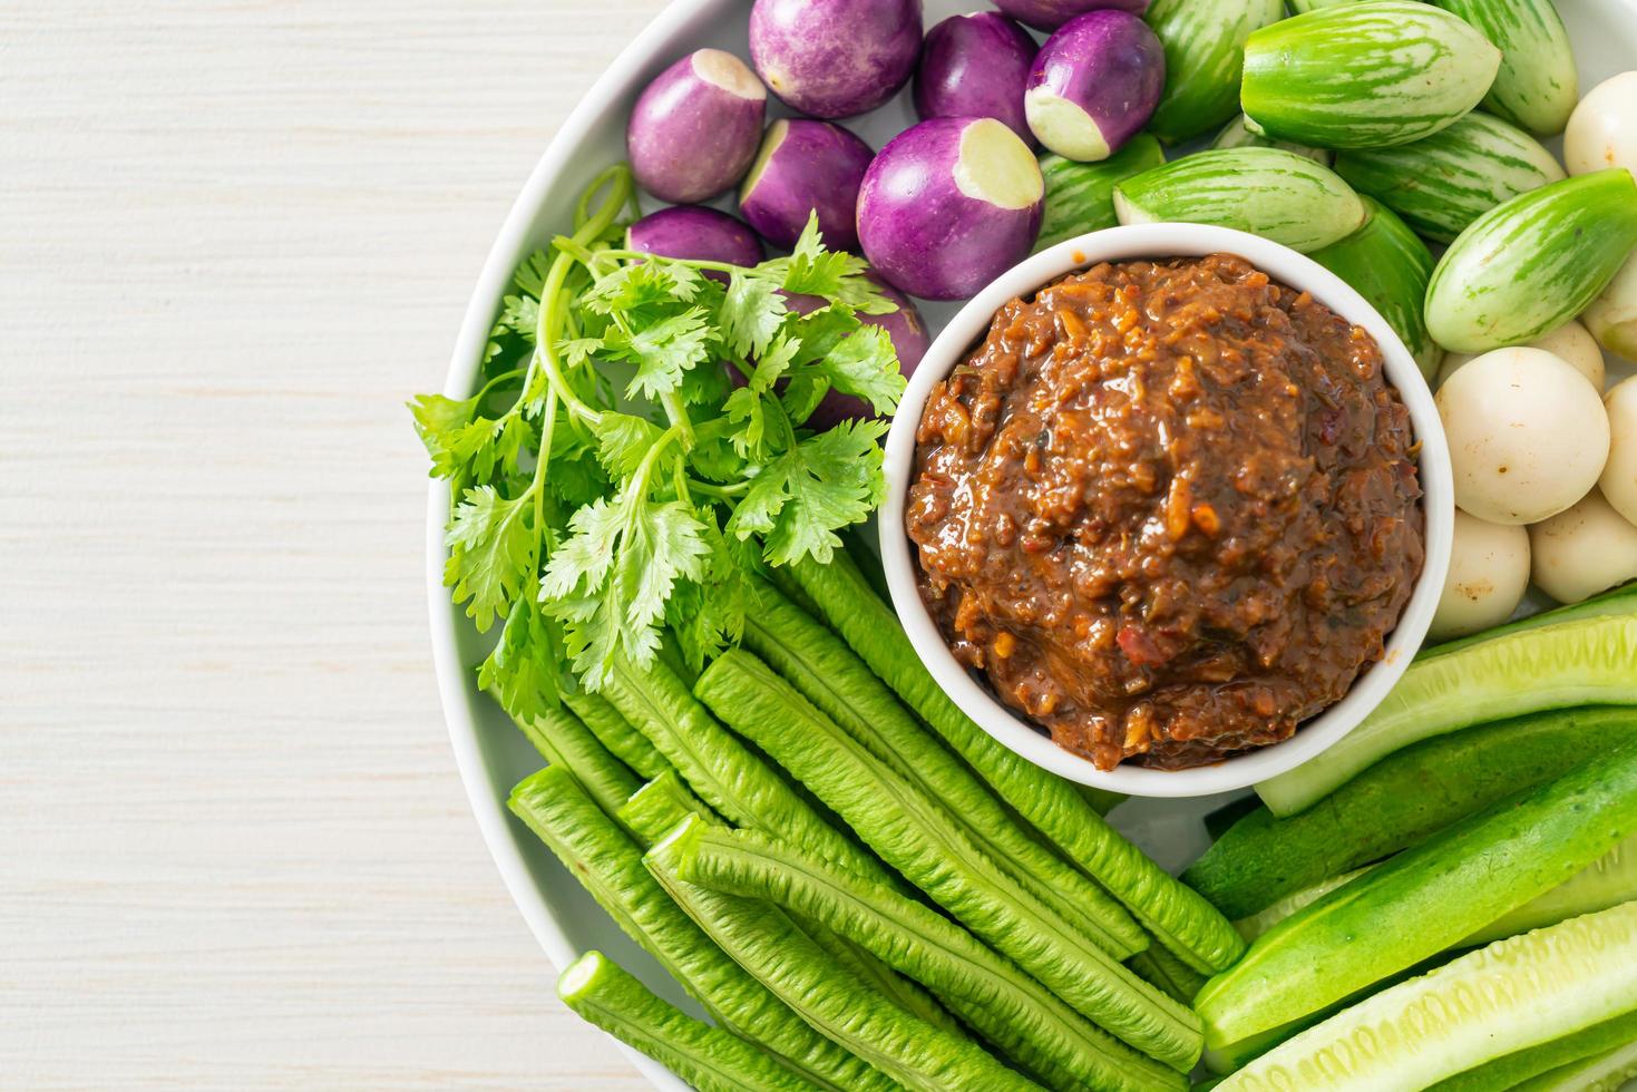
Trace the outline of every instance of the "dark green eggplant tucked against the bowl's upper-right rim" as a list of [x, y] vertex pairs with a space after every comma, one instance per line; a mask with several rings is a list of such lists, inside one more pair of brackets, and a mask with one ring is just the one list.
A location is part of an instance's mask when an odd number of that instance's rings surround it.
[[1362, 200], [1369, 214], [1364, 228], [1310, 257], [1352, 285], [1382, 313], [1431, 383], [1444, 362], [1444, 350], [1427, 334], [1421, 314], [1432, 278], [1432, 250], [1393, 210], [1369, 196]]

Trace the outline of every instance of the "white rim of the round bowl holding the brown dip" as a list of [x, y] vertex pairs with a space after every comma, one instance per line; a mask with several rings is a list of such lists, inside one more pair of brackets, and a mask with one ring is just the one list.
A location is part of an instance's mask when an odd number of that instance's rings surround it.
[[[1369, 331], [1382, 347], [1387, 380], [1398, 388], [1421, 442], [1419, 475], [1426, 521], [1426, 560], [1409, 602], [1387, 640], [1378, 663], [1347, 694], [1293, 737], [1260, 750], [1193, 769], [1098, 769], [1089, 758], [1062, 750], [1049, 737], [1002, 706], [949, 652], [920, 598], [909, 535], [904, 534], [905, 494], [915, 455], [915, 431], [933, 385], [984, 336], [1008, 300], [1098, 262], [1139, 257], [1203, 257], [1229, 252], [1249, 260], [1274, 280], [1305, 290], [1349, 323]], [[1426, 639], [1442, 594], [1454, 539], [1455, 499], [1449, 447], [1432, 391], [1414, 357], [1387, 319], [1354, 288], [1313, 259], [1278, 242], [1208, 224], [1128, 224], [1087, 232], [1025, 259], [972, 296], [927, 349], [899, 403], [887, 434], [887, 498], [881, 506], [881, 558], [899, 622], [940, 688], [989, 735], [1028, 761], [1085, 786], [1144, 797], [1206, 796], [1242, 789], [1315, 758], [1373, 711], [1409, 666]]]

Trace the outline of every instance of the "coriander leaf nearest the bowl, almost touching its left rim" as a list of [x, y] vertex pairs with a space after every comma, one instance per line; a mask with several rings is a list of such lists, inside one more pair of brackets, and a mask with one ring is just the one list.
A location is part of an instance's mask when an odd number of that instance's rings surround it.
[[886, 493], [876, 439], [884, 421], [846, 421], [804, 439], [751, 480], [727, 530], [760, 534], [769, 565], [800, 557], [828, 563], [841, 540], [833, 534], [863, 522]]

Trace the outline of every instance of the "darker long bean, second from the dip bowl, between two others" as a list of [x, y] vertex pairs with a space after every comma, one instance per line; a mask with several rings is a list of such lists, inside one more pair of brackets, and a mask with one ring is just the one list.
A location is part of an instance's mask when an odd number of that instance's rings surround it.
[[876, 761], [941, 802], [977, 848], [1064, 920], [1121, 956], [1148, 943], [1125, 907], [1035, 840], [843, 640], [769, 584], [758, 586], [756, 609], [745, 620], [745, 647]]

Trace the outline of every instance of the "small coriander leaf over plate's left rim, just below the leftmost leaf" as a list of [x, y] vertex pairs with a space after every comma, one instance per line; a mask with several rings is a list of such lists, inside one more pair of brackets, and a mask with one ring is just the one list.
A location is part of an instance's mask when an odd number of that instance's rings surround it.
[[467, 617], [478, 632], [504, 614], [517, 589], [534, 576], [539, 539], [529, 526], [534, 498], [527, 493], [507, 501], [494, 486], [467, 490], [449, 526], [449, 562], [444, 584], [453, 588], [455, 602], [467, 604]]

